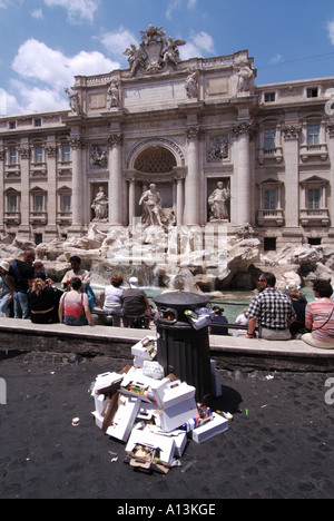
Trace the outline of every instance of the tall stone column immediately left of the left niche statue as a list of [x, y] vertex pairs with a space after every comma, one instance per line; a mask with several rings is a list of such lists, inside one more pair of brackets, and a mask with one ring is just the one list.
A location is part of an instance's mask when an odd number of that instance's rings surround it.
[[82, 176], [82, 140], [70, 138], [72, 156], [72, 225], [70, 232], [81, 235], [84, 232], [84, 176]]

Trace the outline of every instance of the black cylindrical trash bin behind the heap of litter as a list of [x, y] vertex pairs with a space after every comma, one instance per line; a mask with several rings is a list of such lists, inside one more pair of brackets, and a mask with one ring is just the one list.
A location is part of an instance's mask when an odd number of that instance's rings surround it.
[[173, 373], [196, 387], [196, 401], [209, 403], [212, 372], [208, 326], [195, 330], [185, 311], [206, 307], [208, 298], [188, 292], [170, 292], [154, 298], [158, 308], [157, 360], [165, 376]]

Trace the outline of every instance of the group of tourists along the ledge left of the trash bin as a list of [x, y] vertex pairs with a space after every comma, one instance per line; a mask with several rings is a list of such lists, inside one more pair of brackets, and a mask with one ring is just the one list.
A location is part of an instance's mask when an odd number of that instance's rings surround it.
[[[71, 326], [94, 325], [92, 312], [98, 298], [90, 286], [89, 272], [81, 267], [78, 256], [70, 258], [68, 271], [57, 287], [36, 262], [35, 250], [27, 249], [11, 265], [0, 263], [0, 317], [30, 320], [33, 324], [65, 323]], [[112, 275], [104, 295], [104, 311], [112, 317], [112, 325], [132, 327], [141, 320], [149, 323], [148, 298], [136, 277], [122, 287], [120, 275]]]

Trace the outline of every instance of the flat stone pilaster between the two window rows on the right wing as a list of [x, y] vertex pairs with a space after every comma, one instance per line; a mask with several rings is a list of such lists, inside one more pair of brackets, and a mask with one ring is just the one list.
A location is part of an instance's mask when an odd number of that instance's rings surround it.
[[285, 139], [285, 227], [299, 227], [299, 135], [301, 127], [282, 128]]

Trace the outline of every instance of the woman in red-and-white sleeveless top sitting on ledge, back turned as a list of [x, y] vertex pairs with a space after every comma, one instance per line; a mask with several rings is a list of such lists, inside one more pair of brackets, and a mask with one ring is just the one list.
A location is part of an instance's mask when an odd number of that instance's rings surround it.
[[92, 325], [88, 296], [81, 293], [82, 281], [71, 279], [71, 291], [66, 292], [60, 298], [59, 321], [66, 325]]

